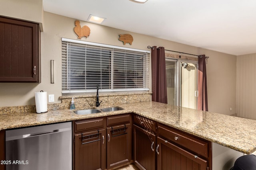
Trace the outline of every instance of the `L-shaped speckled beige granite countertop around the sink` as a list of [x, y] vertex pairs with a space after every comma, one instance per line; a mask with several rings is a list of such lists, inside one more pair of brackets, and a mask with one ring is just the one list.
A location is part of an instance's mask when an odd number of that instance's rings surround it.
[[137, 102], [118, 104], [118, 106], [124, 110], [89, 115], [76, 115], [70, 109], [53, 110], [40, 114], [0, 114], [0, 130], [133, 112], [245, 154], [256, 151], [255, 120], [157, 102]]

